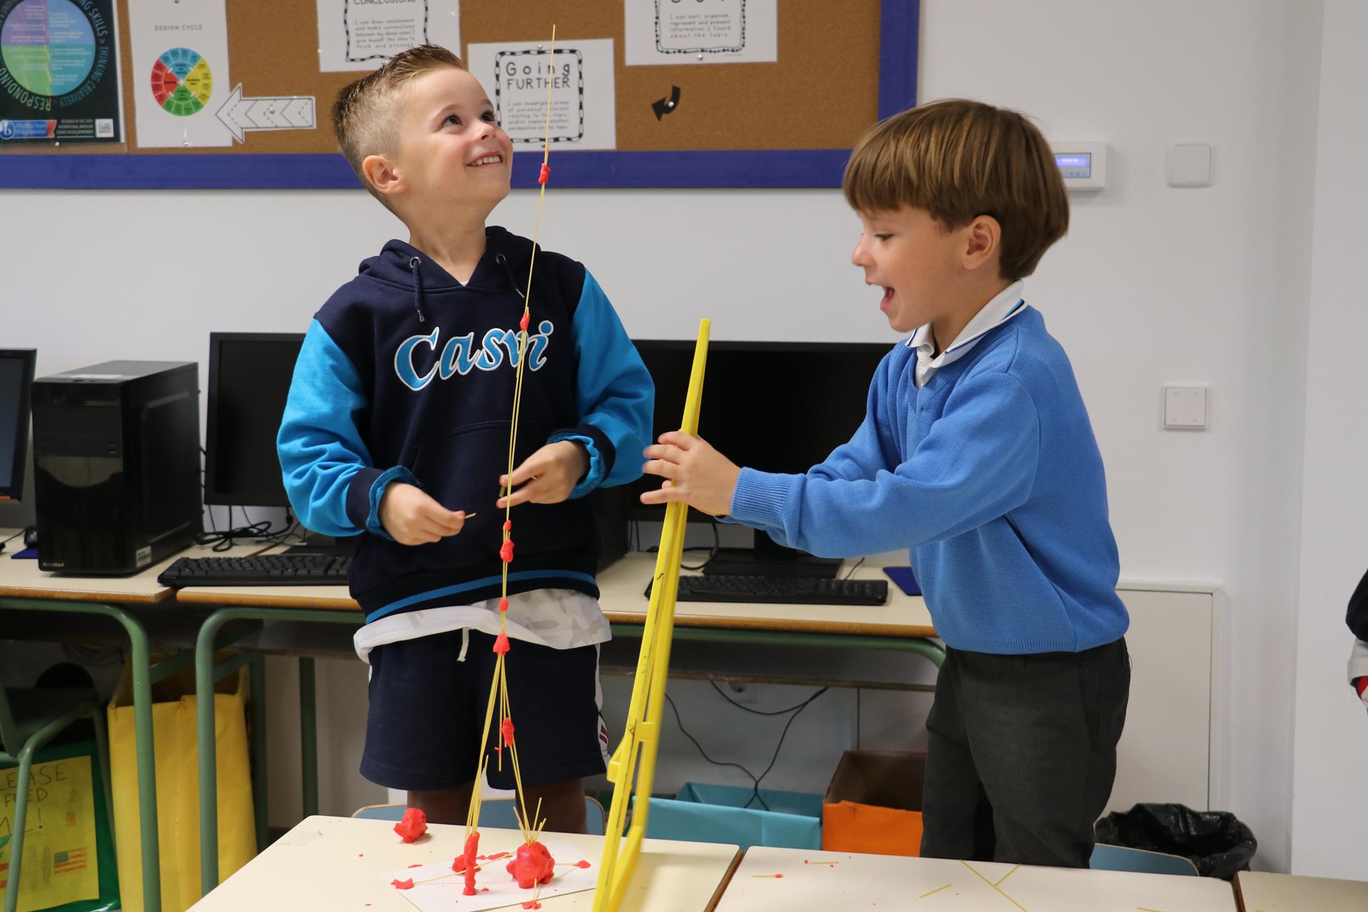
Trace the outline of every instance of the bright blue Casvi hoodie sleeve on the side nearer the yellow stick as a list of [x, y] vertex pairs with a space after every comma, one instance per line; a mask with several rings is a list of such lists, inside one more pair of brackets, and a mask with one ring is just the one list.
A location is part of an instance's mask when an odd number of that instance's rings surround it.
[[572, 327], [576, 360], [576, 409], [580, 425], [551, 435], [549, 443], [583, 443], [590, 468], [572, 498], [642, 476], [642, 450], [651, 438], [655, 384], [622, 328], [603, 289], [584, 271], [584, 289]]

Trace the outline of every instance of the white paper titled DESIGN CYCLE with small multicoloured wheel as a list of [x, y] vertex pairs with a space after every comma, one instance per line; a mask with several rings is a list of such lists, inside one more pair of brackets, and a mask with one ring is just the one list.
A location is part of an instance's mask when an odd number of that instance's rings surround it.
[[224, 1], [129, 4], [138, 148], [233, 145], [216, 116], [233, 89]]

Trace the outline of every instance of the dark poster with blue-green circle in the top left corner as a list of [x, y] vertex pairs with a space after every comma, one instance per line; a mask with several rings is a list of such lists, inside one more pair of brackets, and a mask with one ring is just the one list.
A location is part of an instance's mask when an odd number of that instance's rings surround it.
[[0, 146], [123, 142], [114, 0], [0, 0]]

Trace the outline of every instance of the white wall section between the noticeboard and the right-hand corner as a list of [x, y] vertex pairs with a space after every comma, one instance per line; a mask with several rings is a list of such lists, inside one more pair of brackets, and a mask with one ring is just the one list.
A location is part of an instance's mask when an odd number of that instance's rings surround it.
[[[1112, 146], [1109, 186], [1075, 197], [1027, 297], [1088, 401], [1122, 574], [1226, 587], [1212, 800], [1285, 867], [1319, 4], [923, 10], [923, 100], [979, 97]], [[1172, 141], [1215, 144], [1213, 187], [1164, 186]], [[1164, 381], [1211, 384], [1209, 431], [1159, 428]]]

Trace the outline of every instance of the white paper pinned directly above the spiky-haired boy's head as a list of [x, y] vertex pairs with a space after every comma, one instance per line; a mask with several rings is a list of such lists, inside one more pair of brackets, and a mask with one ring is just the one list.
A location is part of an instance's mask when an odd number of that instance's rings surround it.
[[378, 70], [420, 44], [461, 52], [460, 0], [317, 0], [319, 70]]

